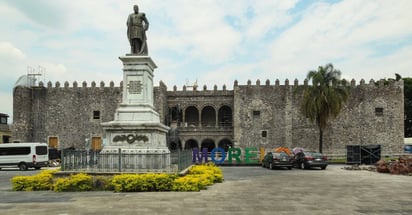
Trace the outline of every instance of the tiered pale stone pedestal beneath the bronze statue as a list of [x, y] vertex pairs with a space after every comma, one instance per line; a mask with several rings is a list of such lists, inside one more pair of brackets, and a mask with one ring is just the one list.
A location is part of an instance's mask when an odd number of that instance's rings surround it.
[[160, 123], [153, 106], [153, 70], [148, 56], [126, 55], [123, 62], [122, 103], [114, 120], [102, 123], [105, 142], [99, 169], [121, 172], [170, 172], [169, 127]]

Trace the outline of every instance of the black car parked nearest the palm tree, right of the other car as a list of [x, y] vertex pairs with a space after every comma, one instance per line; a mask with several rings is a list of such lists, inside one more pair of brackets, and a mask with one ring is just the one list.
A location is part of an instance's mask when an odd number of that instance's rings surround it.
[[328, 159], [326, 156], [319, 152], [299, 152], [293, 159], [293, 166], [300, 169], [309, 169], [312, 167], [320, 167], [321, 169], [326, 169], [328, 166]]

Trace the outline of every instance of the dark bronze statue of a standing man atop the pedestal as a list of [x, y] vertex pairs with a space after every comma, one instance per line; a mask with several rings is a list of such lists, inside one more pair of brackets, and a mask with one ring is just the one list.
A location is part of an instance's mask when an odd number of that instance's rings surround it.
[[127, 38], [131, 46], [131, 54], [147, 55], [146, 31], [149, 28], [146, 14], [139, 13], [139, 6], [135, 5], [134, 13], [127, 18]]

